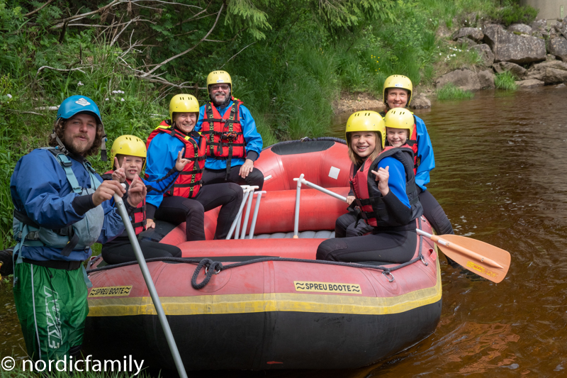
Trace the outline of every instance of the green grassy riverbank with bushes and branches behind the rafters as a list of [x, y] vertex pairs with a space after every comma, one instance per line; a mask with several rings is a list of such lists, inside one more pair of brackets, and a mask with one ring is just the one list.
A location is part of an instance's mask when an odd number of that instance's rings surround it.
[[341, 91], [379, 97], [390, 74], [427, 87], [481, 62], [447, 39], [451, 30], [526, 13], [510, 0], [180, 3], [0, 0], [0, 248], [12, 243], [13, 167], [45, 145], [56, 113], [48, 107], [67, 96], [99, 104], [110, 148], [118, 135], [145, 139], [172, 94], [206, 101], [206, 74], [223, 69], [264, 145], [319, 136]]

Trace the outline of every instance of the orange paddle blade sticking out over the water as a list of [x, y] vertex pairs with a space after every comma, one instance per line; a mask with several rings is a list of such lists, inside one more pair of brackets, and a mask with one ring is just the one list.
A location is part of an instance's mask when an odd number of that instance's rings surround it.
[[432, 240], [452, 260], [492, 282], [501, 282], [510, 268], [510, 253], [494, 245], [450, 234], [433, 235]]

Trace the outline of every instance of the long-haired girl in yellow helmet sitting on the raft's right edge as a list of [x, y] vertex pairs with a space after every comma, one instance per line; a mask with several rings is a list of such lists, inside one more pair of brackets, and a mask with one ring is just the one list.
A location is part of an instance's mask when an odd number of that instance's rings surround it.
[[319, 245], [318, 260], [407, 262], [417, 245], [415, 218], [422, 214], [415, 189], [409, 148], [384, 148], [386, 127], [375, 111], [352, 114], [346, 128], [350, 182], [356, 213], [340, 218], [370, 226], [371, 234], [328, 239]]

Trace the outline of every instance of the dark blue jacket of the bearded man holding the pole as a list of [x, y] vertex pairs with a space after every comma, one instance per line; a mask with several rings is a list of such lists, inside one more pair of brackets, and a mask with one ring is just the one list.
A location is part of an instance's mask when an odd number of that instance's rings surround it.
[[[72, 170], [77, 182], [84, 188], [91, 187], [89, 172], [81, 162], [71, 156]], [[102, 182], [101, 177], [96, 177]], [[75, 200], [79, 194], [73, 192], [67, 181], [64, 169], [51, 152], [33, 150], [16, 163], [10, 180], [13, 206], [31, 218], [38, 225], [58, 229], [64, 228], [84, 218], [84, 213], [93, 209], [92, 201]], [[83, 196], [87, 199], [88, 196]], [[75, 200], [75, 201], [74, 201]], [[79, 202], [81, 206], [79, 206]], [[116, 238], [124, 230], [122, 218], [108, 201], [102, 203], [104, 223], [99, 243]], [[79, 210], [79, 212], [77, 212]], [[21, 257], [30, 260], [84, 261], [91, 256], [91, 248], [73, 250], [69, 256], [61, 254], [61, 248], [22, 246]]]

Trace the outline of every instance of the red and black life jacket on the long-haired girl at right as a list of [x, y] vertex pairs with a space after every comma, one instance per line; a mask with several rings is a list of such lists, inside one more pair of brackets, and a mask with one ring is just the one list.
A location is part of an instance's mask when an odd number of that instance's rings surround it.
[[354, 204], [359, 206], [358, 216], [363, 218], [366, 223], [374, 227], [393, 227], [405, 226], [395, 221], [395, 218], [388, 213], [386, 204], [382, 200], [382, 194], [378, 190], [378, 183], [371, 170], [378, 169], [378, 163], [386, 157], [394, 157], [403, 164], [405, 170], [405, 193], [408, 195], [412, 209], [412, 219], [417, 218], [423, 213], [422, 206], [417, 196], [415, 185], [415, 173], [412, 169], [413, 152], [405, 144], [394, 148], [388, 146], [378, 155], [376, 160], [365, 160], [357, 172], [354, 172], [354, 164], [350, 168], [350, 184], [357, 199]]

